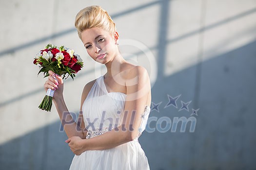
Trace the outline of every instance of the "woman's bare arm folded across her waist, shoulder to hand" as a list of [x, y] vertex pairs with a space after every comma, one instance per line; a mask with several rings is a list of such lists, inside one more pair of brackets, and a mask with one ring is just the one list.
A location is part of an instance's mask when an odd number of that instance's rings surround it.
[[[133, 79], [135, 77], [137, 78]], [[118, 128], [102, 135], [90, 139], [74, 136], [66, 140], [75, 154], [81, 154], [88, 150], [111, 149], [132, 141], [138, 136], [138, 129], [142, 120], [141, 114], [144, 112], [150, 91], [150, 80], [147, 70], [140, 66], [136, 66], [129, 73], [127, 80], [133, 80], [133, 82], [126, 82], [127, 97], [124, 111], [127, 114], [127, 119], [124, 119]]]

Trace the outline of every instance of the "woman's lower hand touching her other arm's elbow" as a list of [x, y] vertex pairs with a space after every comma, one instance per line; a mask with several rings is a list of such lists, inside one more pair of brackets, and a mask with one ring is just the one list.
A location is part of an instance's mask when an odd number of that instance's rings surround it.
[[68, 143], [71, 151], [76, 155], [80, 155], [85, 151], [83, 147], [83, 139], [79, 136], [72, 136], [68, 138], [65, 142]]

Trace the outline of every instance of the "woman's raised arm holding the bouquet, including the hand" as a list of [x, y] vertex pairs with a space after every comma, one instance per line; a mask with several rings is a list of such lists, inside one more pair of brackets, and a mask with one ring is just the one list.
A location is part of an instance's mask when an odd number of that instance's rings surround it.
[[[75, 120], [71, 117], [68, 108], [65, 104], [64, 97], [63, 97], [63, 80], [61, 76], [55, 75], [53, 71], [49, 71], [49, 77], [46, 81], [44, 88], [47, 90], [48, 88], [56, 89], [54, 96], [53, 96], [53, 102], [56, 106], [57, 112], [59, 114], [59, 119], [61, 121], [61, 124], [64, 128], [64, 131], [68, 137], [72, 136], [79, 136], [81, 138], [85, 138], [86, 136], [86, 129], [84, 127], [83, 117], [81, 114], [82, 110], [82, 104], [87, 96], [88, 91], [88, 85], [85, 85], [82, 97], [81, 97], [81, 105], [80, 105], [80, 112], [79, 112], [79, 121], [78, 123], [75, 122]], [[56, 76], [57, 80], [53, 78], [53, 75]], [[58, 87], [57, 87], [58, 85]]]

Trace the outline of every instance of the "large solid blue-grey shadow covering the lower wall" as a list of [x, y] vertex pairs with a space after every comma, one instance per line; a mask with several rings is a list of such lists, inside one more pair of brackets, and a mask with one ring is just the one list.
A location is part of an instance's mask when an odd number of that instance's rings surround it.
[[[188, 123], [185, 133], [180, 133], [178, 126], [176, 133], [145, 131], [139, 138], [152, 170], [256, 168], [255, 47], [256, 41], [201, 63], [195, 132], [189, 133]], [[194, 99], [196, 68], [197, 65], [183, 69], [156, 82], [152, 102], [162, 103], [159, 113], [152, 110], [150, 117], [172, 120], [191, 116], [193, 101], [190, 112], [178, 109], [181, 101]], [[177, 108], [164, 108], [167, 94], [173, 97], [181, 94]], [[59, 132], [59, 126], [55, 122], [0, 145], [0, 169], [68, 169], [73, 153], [64, 142], [67, 137]], [[156, 127], [156, 121], [150, 127]]]

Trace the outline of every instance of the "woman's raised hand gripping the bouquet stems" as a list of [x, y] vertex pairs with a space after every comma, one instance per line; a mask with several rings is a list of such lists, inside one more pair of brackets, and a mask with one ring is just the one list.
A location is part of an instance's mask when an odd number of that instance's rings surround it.
[[[44, 90], [46, 92], [47, 92], [48, 88], [55, 90], [53, 99], [55, 99], [56, 97], [59, 98], [63, 94], [64, 84], [63, 84], [62, 77], [59, 76], [58, 74], [55, 74], [51, 70], [49, 70], [48, 73], [49, 73], [49, 76], [48, 76], [48, 80], [44, 84]], [[53, 76], [56, 77], [56, 80], [53, 78]]]

